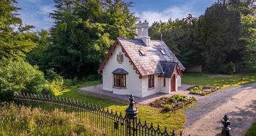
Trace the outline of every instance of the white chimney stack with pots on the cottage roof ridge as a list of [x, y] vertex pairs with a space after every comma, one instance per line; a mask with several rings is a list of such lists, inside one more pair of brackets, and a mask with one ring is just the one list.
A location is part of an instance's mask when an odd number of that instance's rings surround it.
[[141, 21], [137, 24], [138, 35], [136, 39], [141, 39], [146, 46], [150, 45], [150, 37], [148, 36], [148, 22], [145, 20], [143, 23]]

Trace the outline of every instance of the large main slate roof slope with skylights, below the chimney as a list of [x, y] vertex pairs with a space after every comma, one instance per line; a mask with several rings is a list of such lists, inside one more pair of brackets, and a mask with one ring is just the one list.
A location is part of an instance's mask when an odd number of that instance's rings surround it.
[[[134, 62], [141, 75], [163, 73], [161, 61], [178, 62], [179, 68], [181, 70], [185, 69], [183, 64], [180, 63], [174, 53], [170, 51], [169, 47], [163, 41], [150, 40], [150, 46], [146, 46], [141, 39], [118, 38], [118, 40], [130, 56], [132, 62]], [[146, 55], [141, 56], [138, 52], [139, 50], [145, 52]], [[163, 55], [161, 50], [166, 54]]]

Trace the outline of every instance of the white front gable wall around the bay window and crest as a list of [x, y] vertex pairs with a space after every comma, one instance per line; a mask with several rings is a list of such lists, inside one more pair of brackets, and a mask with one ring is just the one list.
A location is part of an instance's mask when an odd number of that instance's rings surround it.
[[[129, 63], [129, 58], [124, 56], [124, 62], [119, 64], [116, 61], [116, 55], [121, 51], [121, 46], [116, 46], [113, 55], [109, 58], [103, 68], [103, 90], [113, 91], [114, 94], [119, 95], [130, 95], [142, 97], [142, 83], [141, 79], [138, 78], [138, 74], [135, 73], [133, 66]], [[124, 53], [122, 53], [124, 54]], [[113, 88], [113, 74], [112, 72], [117, 68], [125, 69], [129, 74], [126, 75], [126, 89]]]

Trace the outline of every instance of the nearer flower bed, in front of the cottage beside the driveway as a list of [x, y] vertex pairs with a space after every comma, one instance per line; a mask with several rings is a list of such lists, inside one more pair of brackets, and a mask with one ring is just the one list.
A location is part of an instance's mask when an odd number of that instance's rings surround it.
[[192, 104], [196, 99], [194, 97], [189, 97], [186, 95], [174, 94], [171, 97], [161, 97], [150, 103], [150, 106], [163, 108], [165, 111], [177, 111], [189, 104]]

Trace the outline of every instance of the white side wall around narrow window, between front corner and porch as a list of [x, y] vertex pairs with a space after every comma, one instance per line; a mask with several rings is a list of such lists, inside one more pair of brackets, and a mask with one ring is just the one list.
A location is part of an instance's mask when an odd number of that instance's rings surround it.
[[148, 75], [142, 77], [142, 97], [158, 93], [158, 75], [154, 74], [154, 88], [148, 88]]

